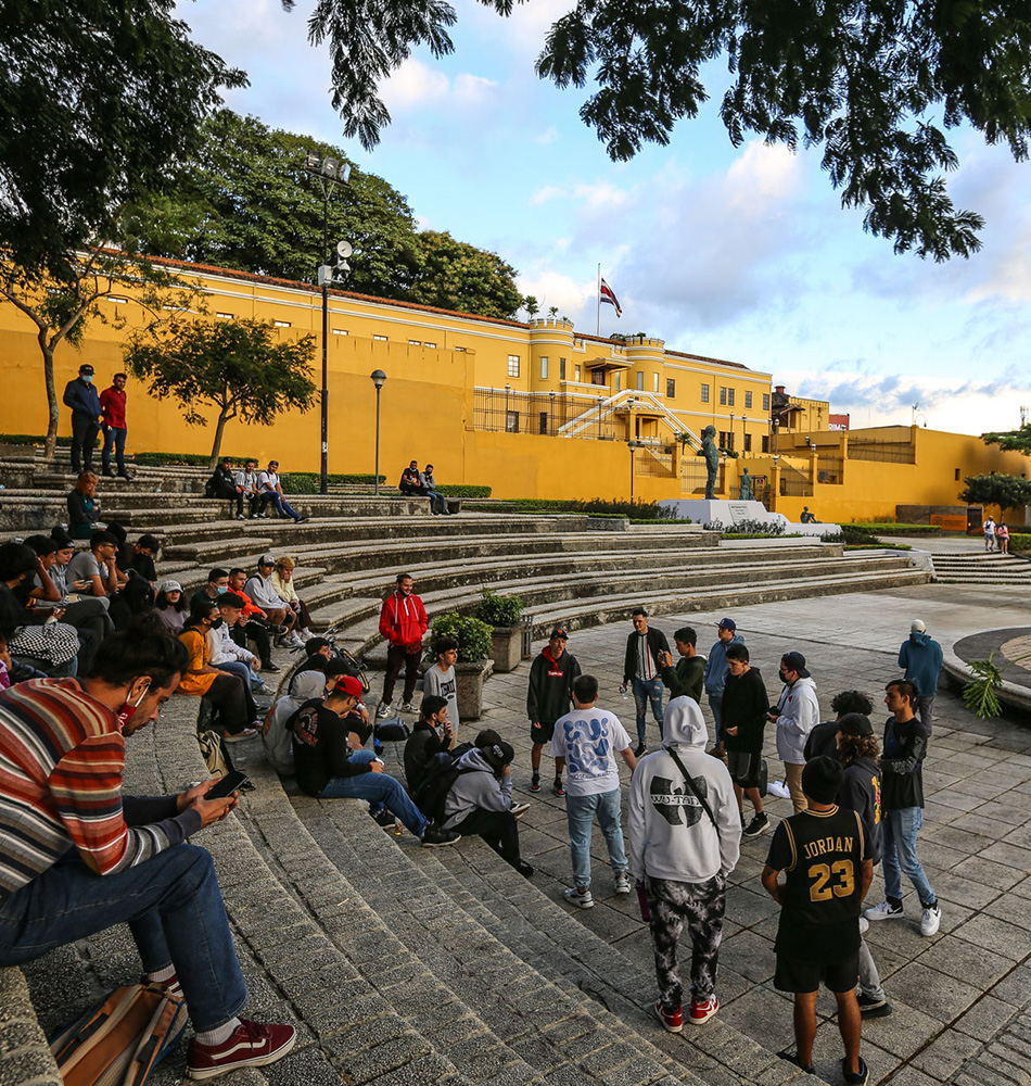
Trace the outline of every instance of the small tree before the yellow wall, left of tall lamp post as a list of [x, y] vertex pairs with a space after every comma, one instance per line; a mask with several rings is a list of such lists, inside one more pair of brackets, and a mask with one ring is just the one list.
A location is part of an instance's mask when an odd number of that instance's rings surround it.
[[125, 348], [130, 372], [158, 400], [171, 396], [190, 426], [207, 426], [203, 408], [218, 414], [211, 468], [218, 463], [226, 422], [270, 426], [282, 412], [311, 406], [315, 337], [279, 342], [271, 321], [175, 319], [136, 331]]

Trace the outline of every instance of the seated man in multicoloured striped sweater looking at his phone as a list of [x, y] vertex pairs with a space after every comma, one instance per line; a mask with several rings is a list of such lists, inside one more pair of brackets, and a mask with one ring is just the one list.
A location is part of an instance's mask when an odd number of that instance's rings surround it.
[[87, 679], [0, 693], [0, 965], [128, 923], [147, 980], [186, 998], [188, 1075], [212, 1078], [273, 1062], [296, 1035], [237, 1016], [247, 993], [214, 863], [187, 844], [237, 795], [207, 799], [214, 781], [122, 793], [125, 736], [157, 719], [186, 664], [175, 637], [133, 629], [103, 642]]

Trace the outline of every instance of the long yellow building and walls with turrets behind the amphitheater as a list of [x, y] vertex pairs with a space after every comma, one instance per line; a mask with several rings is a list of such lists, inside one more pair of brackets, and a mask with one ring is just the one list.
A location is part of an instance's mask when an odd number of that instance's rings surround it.
[[[275, 321], [282, 337], [321, 336], [317, 287], [161, 263], [199, 288], [205, 319], [256, 317]], [[106, 319], [90, 320], [81, 349], [65, 343], [56, 352], [59, 396], [84, 362], [106, 388], [123, 368], [127, 329], [150, 319], [129, 292], [99, 307]], [[700, 496], [707, 472], [697, 450], [707, 426], [723, 451], [717, 493], [736, 497], [747, 467], [755, 496], [791, 519], [803, 505], [825, 521], [892, 518], [896, 504], [957, 504], [964, 476], [1028, 471], [1027, 457], [973, 437], [830, 430], [826, 401], [774, 390], [768, 372], [673, 351], [661, 339], [583, 334], [560, 319], [478, 317], [334, 290], [328, 341], [331, 472], [373, 469], [373, 369], [387, 377], [380, 465], [390, 482], [416, 458], [433, 463], [441, 483], [485, 484], [497, 497]], [[0, 307], [0, 432], [43, 433], [36, 328], [9, 303]], [[174, 402], [135, 381], [127, 392], [129, 452], [209, 451], [211, 426], [187, 426]], [[64, 409], [60, 432], [69, 432]], [[276, 457], [284, 471], [318, 470], [318, 405], [272, 427], [231, 421], [222, 451]]]

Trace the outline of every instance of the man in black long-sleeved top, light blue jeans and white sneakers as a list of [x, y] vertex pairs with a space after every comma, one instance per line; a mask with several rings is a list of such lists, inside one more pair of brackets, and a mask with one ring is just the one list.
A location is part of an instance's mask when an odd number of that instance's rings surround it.
[[891, 711], [884, 724], [880, 759], [881, 807], [884, 812], [884, 900], [863, 915], [867, 920], [901, 920], [902, 872], [920, 898], [920, 934], [938, 934], [942, 910], [938, 896], [916, 858], [916, 838], [924, 825], [924, 757], [927, 731], [913, 711], [916, 687], [905, 679], [890, 682], [884, 704]]

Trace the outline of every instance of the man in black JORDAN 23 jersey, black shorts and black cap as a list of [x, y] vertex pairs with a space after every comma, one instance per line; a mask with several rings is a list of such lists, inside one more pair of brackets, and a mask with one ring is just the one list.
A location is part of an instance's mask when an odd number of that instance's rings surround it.
[[[838, 1002], [844, 1081], [865, 1086], [869, 1072], [860, 1056], [863, 1023], [855, 978], [860, 909], [874, 877], [869, 839], [862, 818], [835, 803], [841, 767], [833, 758], [814, 758], [802, 770], [801, 783], [806, 807], [777, 826], [762, 873], [763, 886], [781, 907], [774, 984], [794, 994], [795, 1052], [780, 1056], [812, 1073], [816, 996], [823, 983]], [[784, 883], [778, 882], [781, 871]]]

